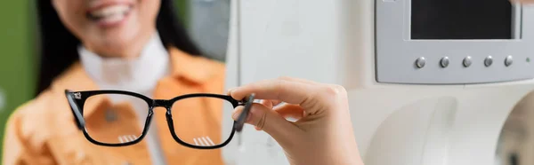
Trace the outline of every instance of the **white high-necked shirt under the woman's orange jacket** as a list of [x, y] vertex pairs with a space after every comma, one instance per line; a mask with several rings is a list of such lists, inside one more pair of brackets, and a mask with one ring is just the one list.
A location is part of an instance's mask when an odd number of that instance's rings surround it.
[[[85, 72], [101, 90], [127, 90], [149, 98], [153, 96], [158, 81], [168, 75], [171, 68], [168, 51], [161, 43], [158, 33], [150, 38], [149, 43], [135, 59], [103, 58], [86, 50], [84, 46], [78, 47], [78, 53]], [[115, 98], [111, 99], [117, 101]], [[134, 104], [142, 127], [149, 111], [145, 106], [146, 104]], [[165, 157], [158, 142], [158, 128], [155, 125], [151, 124], [143, 140], [146, 140], [149, 146], [152, 164], [165, 164]]]

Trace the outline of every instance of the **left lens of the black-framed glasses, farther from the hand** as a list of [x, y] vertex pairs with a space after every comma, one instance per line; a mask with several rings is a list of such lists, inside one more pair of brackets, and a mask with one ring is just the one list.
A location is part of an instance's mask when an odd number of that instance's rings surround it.
[[[85, 130], [95, 141], [124, 144], [141, 137], [149, 105], [142, 98], [101, 94], [84, 104]], [[139, 116], [139, 117], [138, 117]]]

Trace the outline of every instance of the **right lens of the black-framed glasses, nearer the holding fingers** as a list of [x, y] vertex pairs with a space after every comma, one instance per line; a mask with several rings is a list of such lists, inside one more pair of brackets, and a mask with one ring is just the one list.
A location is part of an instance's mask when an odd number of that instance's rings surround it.
[[[222, 98], [185, 98], [172, 106], [176, 137], [190, 145], [221, 145], [231, 136], [232, 120], [223, 120], [223, 109], [233, 109], [231, 102]], [[224, 123], [228, 122], [228, 123]]]

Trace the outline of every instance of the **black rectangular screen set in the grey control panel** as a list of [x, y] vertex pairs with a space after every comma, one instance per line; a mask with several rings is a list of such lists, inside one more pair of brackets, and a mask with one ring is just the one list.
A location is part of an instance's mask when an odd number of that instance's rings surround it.
[[411, 0], [412, 39], [513, 39], [508, 0]]

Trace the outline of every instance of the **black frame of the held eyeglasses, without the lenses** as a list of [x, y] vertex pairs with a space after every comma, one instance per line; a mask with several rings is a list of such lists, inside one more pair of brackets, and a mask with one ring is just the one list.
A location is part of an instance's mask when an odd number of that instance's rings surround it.
[[[142, 130], [141, 137], [135, 139], [134, 141], [125, 142], [121, 144], [102, 143], [91, 138], [91, 136], [87, 133], [87, 130], [85, 129], [83, 105], [85, 104], [85, 101], [87, 100], [87, 98], [90, 98], [95, 95], [101, 95], [101, 94], [128, 95], [128, 96], [133, 96], [136, 98], [141, 98], [147, 103], [148, 108], [149, 108], [148, 109], [149, 113], [145, 120], [145, 124]], [[219, 95], [219, 94], [211, 94], [211, 93], [187, 94], [187, 95], [178, 96], [172, 99], [152, 99], [142, 94], [131, 92], [131, 91], [125, 91], [125, 90], [85, 90], [85, 91], [65, 90], [65, 96], [67, 97], [69, 101], [70, 110], [72, 114], [74, 115], [74, 118], [75, 118], [74, 120], [77, 124], [78, 130], [82, 130], [85, 138], [87, 138], [87, 140], [89, 140], [91, 143], [95, 145], [126, 146], [126, 145], [134, 145], [134, 144], [139, 143], [146, 136], [149, 130], [150, 122], [152, 121], [152, 115], [154, 114], [153, 109], [155, 107], [165, 107], [167, 125], [169, 127], [169, 130], [171, 131], [171, 135], [173, 136], [174, 141], [178, 142], [180, 145], [188, 146], [190, 148], [195, 148], [195, 149], [216, 149], [216, 148], [221, 148], [225, 145], [228, 145], [231, 142], [231, 139], [233, 138], [236, 130], [238, 132], [242, 130], [246, 122], [244, 119], [247, 118], [248, 112], [250, 111], [250, 107], [252, 106], [252, 103], [254, 101], [254, 94], [249, 96], [248, 99], [245, 98], [241, 101], [231, 98], [231, 96], [228, 96], [228, 95]], [[180, 138], [178, 138], [178, 136], [176, 136], [176, 132], [174, 131], [174, 122], [173, 122], [173, 115], [172, 115], [172, 110], [171, 110], [174, 102], [184, 99], [184, 98], [221, 98], [221, 99], [229, 101], [234, 108], [238, 106], [245, 106], [245, 109], [243, 110], [243, 113], [239, 114], [239, 120], [237, 122], [236, 121], [233, 122], [233, 127], [231, 129], [230, 137], [226, 139], [226, 141], [224, 141], [222, 144], [211, 145], [211, 146], [190, 145], [182, 141]], [[82, 105], [82, 106], [80, 107], [78, 105]]]

